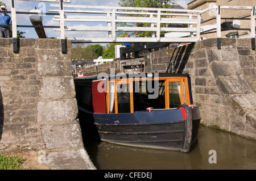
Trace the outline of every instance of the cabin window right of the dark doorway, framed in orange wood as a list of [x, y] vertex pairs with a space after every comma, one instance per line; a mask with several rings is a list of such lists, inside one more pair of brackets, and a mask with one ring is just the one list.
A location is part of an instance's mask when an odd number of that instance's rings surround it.
[[181, 104], [180, 82], [169, 82], [170, 108], [175, 108]]

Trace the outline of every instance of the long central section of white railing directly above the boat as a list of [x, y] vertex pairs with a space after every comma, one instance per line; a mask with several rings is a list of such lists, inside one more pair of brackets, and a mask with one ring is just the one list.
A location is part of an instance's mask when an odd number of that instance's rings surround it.
[[[51, 7], [60, 5], [51, 4]], [[105, 7], [105, 6], [82, 6], [64, 5], [65, 16], [57, 15], [53, 20], [59, 22], [98, 22], [106, 23], [106, 26], [84, 26], [81, 25], [65, 27], [65, 31], [106, 31], [108, 37], [69, 37], [73, 40], [84, 40], [85, 42], [193, 42], [200, 39], [200, 14], [199, 10], [180, 9], [155, 9], [139, 7]], [[69, 9], [68, 9], [69, 8]], [[70, 10], [73, 8], [74, 10]], [[60, 12], [59, 9], [49, 10], [49, 12]], [[85, 15], [74, 15], [75, 13]], [[68, 15], [72, 14], [72, 15]], [[88, 15], [90, 14], [90, 15]], [[93, 15], [91, 15], [93, 14]], [[127, 16], [129, 15], [129, 16]], [[138, 16], [139, 15], [139, 16]], [[63, 20], [64, 18], [64, 20]], [[133, 26], [118, 26], [118, 23], [133, 24]], [[135, 23], [148, 23], [148, 27], [134, 26]], [[182, 24], [188, 27], [168, 27], [169, 24]], [[167, 25], [164, 27], [164, 25]], [[55, 31], [63, 33], [61, 28]], [[152, 32], [152, 37], [117, 37], [117, 32]], [[189, 32], [190, 37], [161, 37], [161, 32]], [[197, 37], [193, 37], [196, 33]]]

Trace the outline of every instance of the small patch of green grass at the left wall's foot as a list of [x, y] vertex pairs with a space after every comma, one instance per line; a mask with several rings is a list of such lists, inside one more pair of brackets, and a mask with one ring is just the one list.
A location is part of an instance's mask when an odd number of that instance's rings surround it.
[[23, 162], [23, 158], [16, 155], [0, 154], [0, 170], [16, 170], [19, 169]]

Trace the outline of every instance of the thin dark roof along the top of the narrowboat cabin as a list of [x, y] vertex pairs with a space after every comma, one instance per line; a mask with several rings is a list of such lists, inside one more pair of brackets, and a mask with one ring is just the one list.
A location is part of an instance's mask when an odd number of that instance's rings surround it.
[[93, 75], [88, 77], [79, 77], [74, 78], [75, 80], [84, 80], [84, 81], [97, 81], [106, 78], [122, 79], [122, 78], [137, 78], [137, 77], [188, 77], [189, 74], [180, 74], [180, 73], [119, 73], [116, 75], [105, 74], [105, 75]]

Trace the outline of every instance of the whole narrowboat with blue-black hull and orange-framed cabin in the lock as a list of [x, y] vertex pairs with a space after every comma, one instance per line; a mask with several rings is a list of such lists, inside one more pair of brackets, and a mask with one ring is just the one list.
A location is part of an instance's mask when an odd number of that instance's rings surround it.
[[74, 82], [82, 133], [114, 144], [183, 152], [197, 142], [201, 116], [188, 74], [103, 74]]

